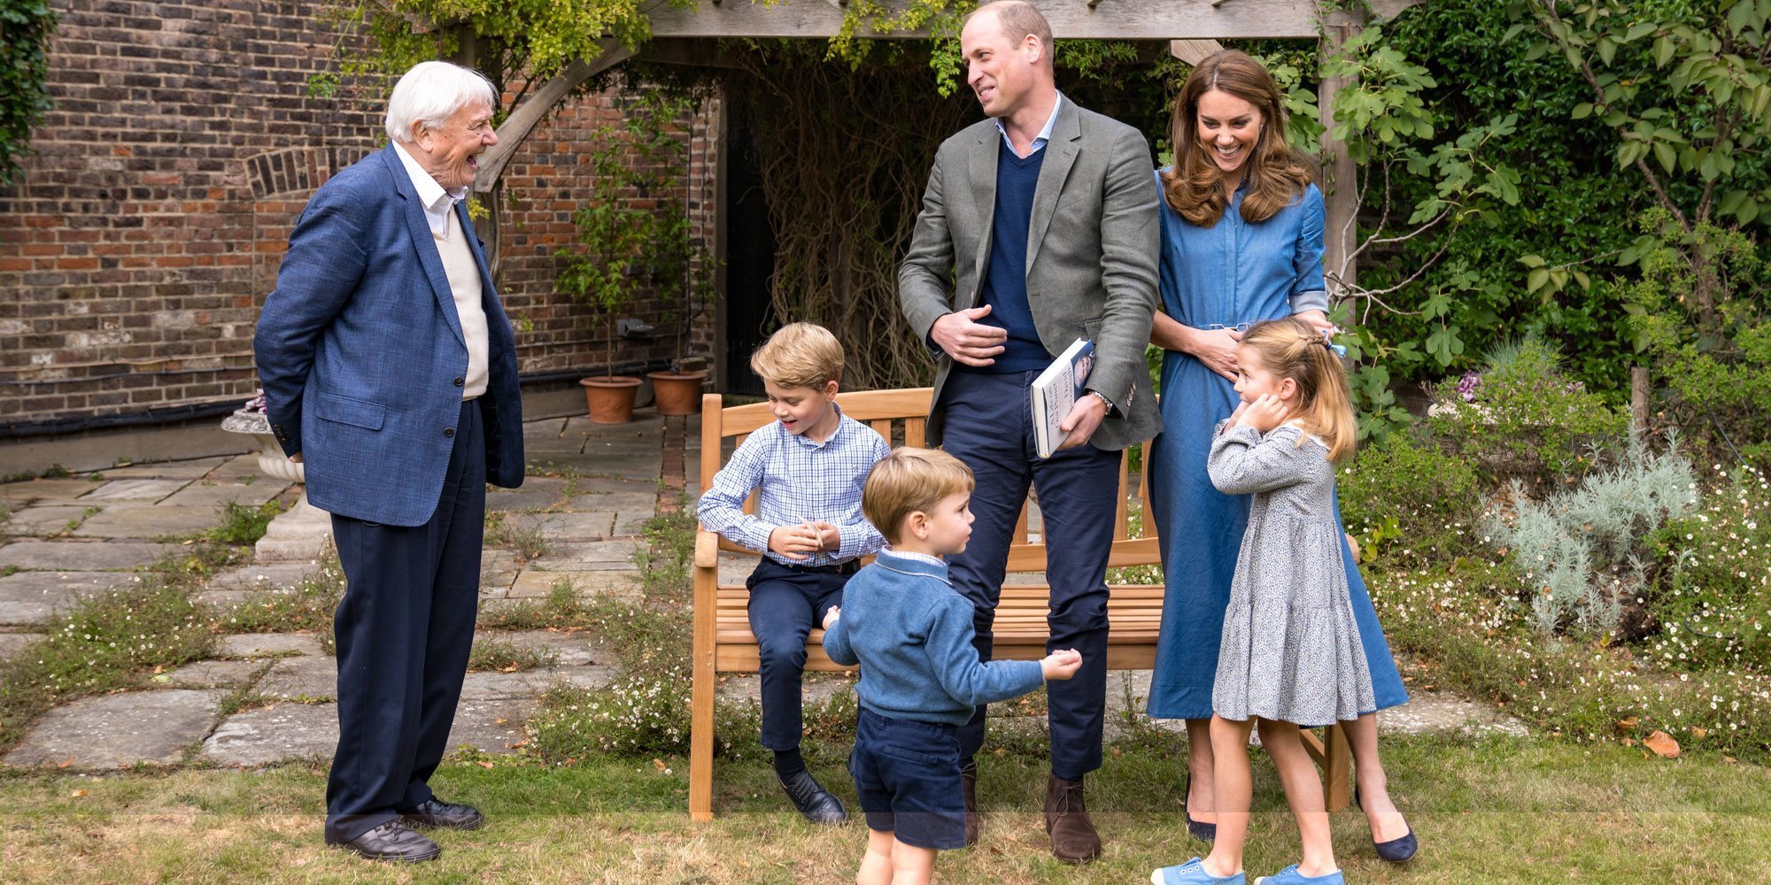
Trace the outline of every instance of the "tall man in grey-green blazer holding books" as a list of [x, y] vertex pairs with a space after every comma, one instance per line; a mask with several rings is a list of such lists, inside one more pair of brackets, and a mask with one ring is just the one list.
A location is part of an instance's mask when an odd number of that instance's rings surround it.
[[[1107, 556], [1119, 451], [1162, 430], [1144, 342], [1156, 310], [1156, 184], [1144, 136], [1079, 108], [1052, 76], [1052, 28], [1020, 0], [978, 9], [960, 34], [967, 83], [986, 120], [935, 154], [898, 297], [940, 363], [930, 444], [963, 460], [978, 489], [955, 589], [978, 609], [990, 658], [1009, 535], [1027, 489], [1040, 496], [1052, 586], [1048, 648], [1082, 671], [1048, 689], [1052, 853], [1086, 862], [1100, 835], [1082, 777], [1102, 765], [1107, 699]], [[1073, 340], [1094, 342], [1084, 396], [1059, 451], [1034, 448], [1029, 384]], [[976, 839], [976, 763], [985, 710], [960, 735], [967, 839]]]

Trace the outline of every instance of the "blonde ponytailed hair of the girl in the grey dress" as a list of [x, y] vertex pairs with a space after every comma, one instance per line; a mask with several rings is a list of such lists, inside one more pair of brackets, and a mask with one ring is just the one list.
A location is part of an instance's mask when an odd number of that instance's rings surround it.
[[1341, 462], [1353, 453], [1358, 425], [1346, 370], [1319, 329], [1293, 317], [1261, 320], [1241, 335], [1241, 345], [1261, 354], [1261, 365], [1275, 379], [1296, 382], [1296, 421], [1328, 446], [1328, 460]]

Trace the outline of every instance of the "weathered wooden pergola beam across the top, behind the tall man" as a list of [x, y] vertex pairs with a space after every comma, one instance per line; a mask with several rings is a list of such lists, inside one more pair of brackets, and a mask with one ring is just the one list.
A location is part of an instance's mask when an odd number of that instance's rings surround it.
[[[1417, 0], [1374, 0], [1378, 18], [1390, 18]], [[891, 14], [909, 0], [886, 0]], [[1047, 0], [1040, 12], [1052, 23], [1056, 39], [1148, 41], [1148, 39], [1316, 39], [1321, 7], [1316, 0]], [[666, 4], [646, 12], [653, 37], [834, 37], [843, 27], [843, 7], [834, 0], [788, 0], [763, 5], [751, 0], [701, 4], [675, 9]], [[1348, 23], [1332, 12], [1328, 23]], [[875, 32], [857, 28], [857, 37], [928, 37], [923, 30]]]

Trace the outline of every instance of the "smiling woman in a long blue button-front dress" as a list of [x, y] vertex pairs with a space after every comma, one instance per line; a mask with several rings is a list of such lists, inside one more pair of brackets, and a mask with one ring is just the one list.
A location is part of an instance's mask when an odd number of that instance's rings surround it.
[[[1149, 715], [1185, 719], [1188, 830], [1210, 839], [1211, 680], [1249, 501], [1211, 487], [1213, 427], [1236, 409], [1240, 329], [1295, 315], [1330, 329], [1323, 280], [1323, 195], [1286, 147], [1279, 88], [1259, 62], [1226, 50], [1194, 67], [1174, 103], [1174, 166], [1162, 191], [1162, 419], [1149, 460], [1149, 506], [1162, 536], [1167, 591]], [[1335, 513], [1339, 520], [1339, 508]], [[1342, 545], [1346, 542], [1342, 540]], [[1371, 666], [1376, 710], [1408, 699], [1365, 584], [1342, 547], [1353, 612]], [[1373, 843], [1406, 860], [1415, 841], [1385, 788], [1376, 710], [1348, 726]], [[1195, 818], [1194, 814], [1199, 814]]]

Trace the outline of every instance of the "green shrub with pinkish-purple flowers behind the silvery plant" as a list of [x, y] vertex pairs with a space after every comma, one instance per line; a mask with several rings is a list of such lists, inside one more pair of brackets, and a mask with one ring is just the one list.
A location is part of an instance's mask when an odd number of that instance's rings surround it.
[[1594, 450], [1620, 446], [1629, 430], [1629, 418], [1569, 381], [1537, 338], [1493, 350], [1479, 375], [1445, 379], [1435, 393], [1433, 435], [1495, 481], [1582, 476]]

